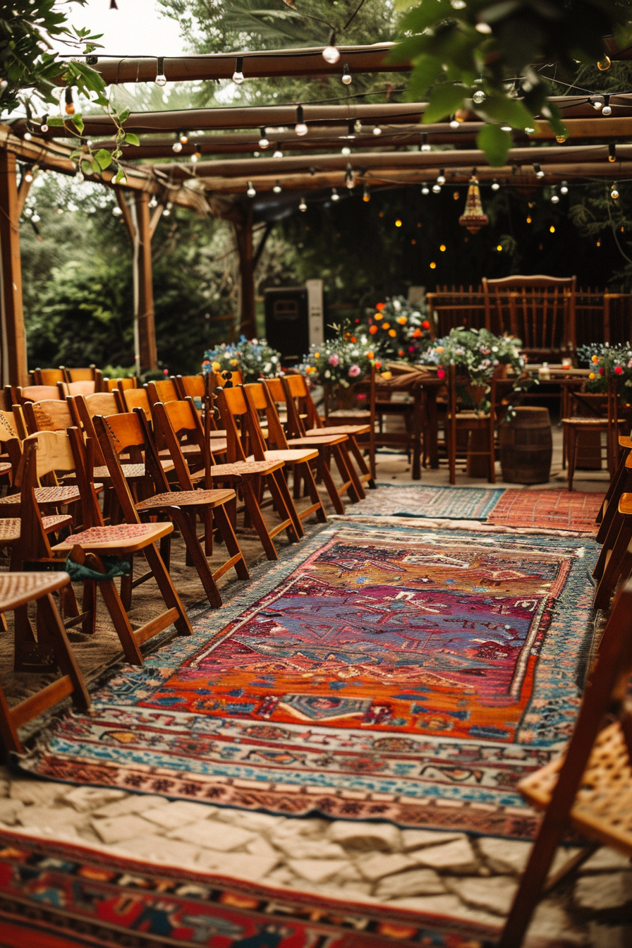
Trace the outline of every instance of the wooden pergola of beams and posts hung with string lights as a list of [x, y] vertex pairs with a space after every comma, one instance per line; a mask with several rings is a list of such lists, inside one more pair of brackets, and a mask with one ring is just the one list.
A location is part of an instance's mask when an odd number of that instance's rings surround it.
[[[322, 47], [226, 53], [158, 61], [99, 57], [95, 68], [106, 82], [153, 82], [158, 64], [169, 82], [229, 78], [237, 60], [246, 78], [332, 75], [349, 64], [352, 72], [406, 71], [409, 64], [388, 63], [389, 44], [339, 47], [340, 60], [328, 64]], [[615, 54], [628, 58], [630, 50]], [[278, 190], [294, 193], [282, 199], [284, 209], [298, 207], [300, 198], [321, 198], [322, 192], [354, 187], [407, 187], [434, 181], [443, 172], [447, 184], [464, 184], [477, 171], [479, 180], [497, 179], [520, 187], [541, 187], [563, 180], [609, 179], [627, 176], [632, 162], [632, 95], [611, 95], [612, 116], [593, 107], [589, 95], [551, 99], [561, 108], [569, 137], [553, 144], [546, 120], [533, 132], [516, 132], [515, 147], [502, 168], [490, 167], [475, 147], [482, 122], [474, 114], [463, 122], [423, 125], [424, 102], [358, 102], [344, 104], [293, 103], [272, 106], [219, 107], [172, 112], [133, 113], [125, 130], [141, 137], [140, 147], [123, 146], [126, 181], [115, 185], [110, 171], [86, 175], [87, 180], [112, 188], [134, 248], [135, 333], [140, 363], [157, 365], [153, 323], [153, 232], [166, 205], [212, 214], [235, 228], [240, 259], [241, 327], [255, 335], [254, 273], [264, 229], [255, 251], [253, 221], [265, 209], [279, 210]], [[598, 97], [597, 97], [598, 98]], [[602, 97], [603, 98], [603, 97]], [[298, 135], [301, 120], [308, 133]], [[0, 125], [0, 262], [2, 302], [2, 374], [5, 383], [27, 379], [27, 346], [22, 310], [18, 222], [30, 184], [28, 168], [76, 173], [70, 154], [91, 141], [91, 150], [114, 149], [116, 124], [109, 116], [84, 116], [81, 137], [71, 121], [50, 126], [17, 118]], [[260, 144], [262, 132], [269, 144]], [[379, 132], [379, 134], [376, 134]], [[26, 137], [25, 137], [26, 135]], [[180, 137], [188, 140], [180, 142]], [[181, 144], [176, 152], [174, 143]], [[177, 148], [177, 145], [176, 145]], [[341, 150], [345, 149], [345, 154]], [[274, 156], [273, 153], [292, 154]], [[259, 153], [255, 156], [255, 153]], [[613, 160], [614, 159], [614, 160]], [[536, 169], [544, 176], [536, 176]], [[22, 174], [18, 180], [18, 167]], [[249, 188], [256, 196], [246, 196]], [[277, 192], [273, 193], [273, 188]], [[317, 193], [319, 192], [319, 193]], [[154, 198], [154, 200], [153, 200]], [[150, 207], [150, 202], [154, 206]], [[273, 213], [274, 218], [274, 213]]]

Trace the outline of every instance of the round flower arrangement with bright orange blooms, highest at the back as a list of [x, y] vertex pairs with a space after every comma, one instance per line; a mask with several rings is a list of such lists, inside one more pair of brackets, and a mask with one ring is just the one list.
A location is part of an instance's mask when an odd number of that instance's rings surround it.
[[403, 296], [378, 302], [367, 319], [366, 332], [382, 358], [417, 362], [431, 344], [429, 319], [421, 306], [412, 306]]

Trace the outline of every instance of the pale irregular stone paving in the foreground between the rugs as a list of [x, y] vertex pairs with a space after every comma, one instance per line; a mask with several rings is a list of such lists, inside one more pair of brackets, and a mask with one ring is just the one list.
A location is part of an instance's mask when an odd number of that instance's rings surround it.
[[[222, 872], [353, 902], [499, 926], [530, 843], [390, 823], [297, 819], [163, 796], [72, 787], [0, 769], [0, 829], [27, 830], [148, 863]], [[557, 853], [561, 866], [569, 850]], [[541, 903], [535, 945], [629, 948], [632, 866], [599, 849]]]

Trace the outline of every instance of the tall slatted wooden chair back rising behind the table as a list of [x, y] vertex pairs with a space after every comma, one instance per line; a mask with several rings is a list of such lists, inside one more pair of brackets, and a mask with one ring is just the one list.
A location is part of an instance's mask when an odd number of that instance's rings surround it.
[[532, 358], [572, 355], [576, 348], [575, 277], [483, 278], [485, 326], [522, 340]]

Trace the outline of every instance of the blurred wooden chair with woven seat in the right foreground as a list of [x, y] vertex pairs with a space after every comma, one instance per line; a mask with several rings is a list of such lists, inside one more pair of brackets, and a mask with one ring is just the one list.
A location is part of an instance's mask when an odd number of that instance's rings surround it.
[[[565, 755], [518, 784], [528, 802], [545, 813], [497, 948], [519, 948], [555, 851], [571, 826], [632, 857], [632, 718], [626, 698], [631, 674], [632, 583], [627, 583], [605, 628]], [[574, 857], [569, 868], [593, 849]], [[551, 883], [567, 871], [556, 873]]]

